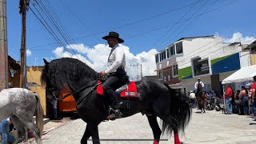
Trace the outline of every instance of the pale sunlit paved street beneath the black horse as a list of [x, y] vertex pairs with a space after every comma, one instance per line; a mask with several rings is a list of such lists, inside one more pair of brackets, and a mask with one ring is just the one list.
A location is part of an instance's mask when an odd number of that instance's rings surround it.
[[[198, 111], [199, 112], [199, 111]], [[43, 143], [71, 144], [79, 143], [86, 128], [81, 119], [66, 122], [63, 126], [51, 130], [43, 135]], [[123, 118], [114, 122], [102, 122], [99, 126], [100, 138], [107, 143], [149, 143], [152, 141], [108, 141], [110, 139], [152, 139], [153, 134], [146, 116], [135, 114], [130, 118]], [[163, 137], [166, 138], [166, 137]], [[192, 121], [186, 128], [186, 134], [181, 135], [184, 143], [256, 143], [256, 121], [249, 116], [231, 114], [226, 115], [215, 110], [206, 110], [205, 114], [193, 110]], [[92, 142], [89, 142], [92, 143]], [[174, 143], [172, 136], [162, 144]]]

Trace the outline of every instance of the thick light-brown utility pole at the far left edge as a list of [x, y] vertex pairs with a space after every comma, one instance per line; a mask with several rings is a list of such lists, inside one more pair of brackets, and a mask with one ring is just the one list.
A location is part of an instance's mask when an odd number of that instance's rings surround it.
[[8, 88], [6, 0], [0, 0], [0, 90]]

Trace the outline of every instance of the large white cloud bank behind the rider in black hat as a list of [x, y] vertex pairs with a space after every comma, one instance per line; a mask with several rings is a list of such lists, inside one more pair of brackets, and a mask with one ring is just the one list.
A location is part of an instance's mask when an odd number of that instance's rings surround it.
[[[141, 65], [142, 64], [142, 75], [156, 75], [154, 71], [156, 69], [156, 64], [154, 61], [154, 54], [158, 51], [151, 49], [149, 51], [143, 51], [139, 54], [131, 54], [130, 48], [128, 46], [122, 46], [126, 54], [126, 70], [130, 79], [137, 78], [137, 75], [141, 74]], [[85, 62], [88, 66], [93, 68], [96, 71], [101, 71], [106, 69], [107, 58], [110, 54], [110, 47], [105, 44], [98, 44], [92, 48], [85, 46], [83, 44], [72, 44], [66, 46], [69, 51], [75, 52], [76, 54], [70, 54], [64, 50], [63, 47], [58, 47], [53, 50], [56, 58], [68, 57], [68, 58], [77, 58], [82, 62]]]

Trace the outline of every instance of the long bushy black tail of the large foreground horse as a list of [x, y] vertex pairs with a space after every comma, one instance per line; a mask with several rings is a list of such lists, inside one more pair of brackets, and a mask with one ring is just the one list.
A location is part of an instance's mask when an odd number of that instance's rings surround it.
[[170, 120], [162, 121], [162, 132], [169, 132], [174, 130], [174, 133], [178, 131], [184, 132], [185, 127], [189, 124], [192, 110], [188, 103], [186, 95], [178, 92], [177, 90], [171, 89], [165, 83], [165, 86], [170, 92]]

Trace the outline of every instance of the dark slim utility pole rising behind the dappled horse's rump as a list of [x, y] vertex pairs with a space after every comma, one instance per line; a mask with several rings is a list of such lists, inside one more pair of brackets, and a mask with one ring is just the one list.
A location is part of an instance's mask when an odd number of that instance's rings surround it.
[[21, 71], [20, 87], [26, 88], [26, 10], [30, 0], [19, 1], [19, 13], [22, 14], [22, 44], [21, 44]]

